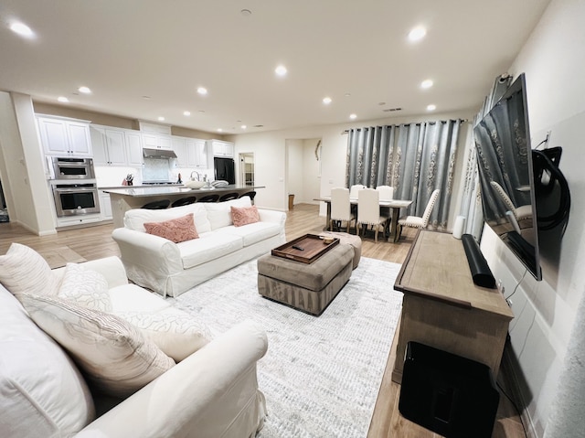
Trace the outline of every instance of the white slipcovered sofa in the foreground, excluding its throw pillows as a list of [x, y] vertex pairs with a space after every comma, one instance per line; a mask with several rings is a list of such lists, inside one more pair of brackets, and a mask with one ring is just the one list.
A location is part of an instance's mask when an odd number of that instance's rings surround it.
[[[113, 313], [133, 309], [172, 315], [177, 310], [129, 284], [117, 257], [83, 265], [106, 278]], [[240, 323], [125, 400], [100, 397], [65, 350], [0, 285], [0, 434], [253, 437], [265, 417], [256, 362], [267, 345], [261, 328]]]

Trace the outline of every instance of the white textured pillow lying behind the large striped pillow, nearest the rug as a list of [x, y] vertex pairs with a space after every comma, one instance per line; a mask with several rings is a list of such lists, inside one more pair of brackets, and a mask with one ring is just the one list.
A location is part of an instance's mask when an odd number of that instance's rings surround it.
[[[176, 311], [175, 311], [176, 310]], [[116, 315], [138, 327], [167, 356], [180, 362], [211, 340], [207, 326], [178, 309], [165, 312], [124, 312]]]

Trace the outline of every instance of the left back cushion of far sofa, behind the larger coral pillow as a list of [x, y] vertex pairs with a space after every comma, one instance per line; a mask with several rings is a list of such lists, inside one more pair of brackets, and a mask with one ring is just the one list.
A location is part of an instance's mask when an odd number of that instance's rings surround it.
[[203, 204], [189, 204], [187, 206], [150, 210], [146, 208], [133, 208], [124, 214], [124, 227], [130, 230], [145, 231], [144, 222], [162, 222], [176, 219], [193, 213], [193, 220], [197, 233], [211, 230], [211, 224], [207, 219], [207, 209]]

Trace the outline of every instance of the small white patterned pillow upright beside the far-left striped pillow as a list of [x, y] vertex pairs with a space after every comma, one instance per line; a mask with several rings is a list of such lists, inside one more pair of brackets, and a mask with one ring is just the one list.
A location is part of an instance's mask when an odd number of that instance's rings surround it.
[[100, 272], [87, 269], [82, 264], [67, 263], [58, 297], [87, 309], [112, 312], [108, 281]]

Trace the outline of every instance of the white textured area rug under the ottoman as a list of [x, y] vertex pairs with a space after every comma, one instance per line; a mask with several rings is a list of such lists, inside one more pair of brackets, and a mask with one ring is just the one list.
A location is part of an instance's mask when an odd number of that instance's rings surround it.
[[200, 284], [171, 302], [214, 334], [244, 318], [264, 327], [268, 352], [258, 363], [268, 418], [260, 438], [365, 438], [399, 321], [400, 265], [361, 259], [321, 316], [258, 294], [256, 261]]

